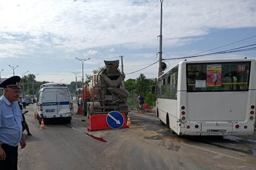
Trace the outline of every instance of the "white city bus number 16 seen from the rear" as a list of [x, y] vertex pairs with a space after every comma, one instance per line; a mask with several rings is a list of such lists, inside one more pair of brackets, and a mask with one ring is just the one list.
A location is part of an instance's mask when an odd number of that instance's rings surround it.
[[177, 135], [252, 135], [255, 77], [246, 58], [179, 62], [157, 80], [156, 117]]

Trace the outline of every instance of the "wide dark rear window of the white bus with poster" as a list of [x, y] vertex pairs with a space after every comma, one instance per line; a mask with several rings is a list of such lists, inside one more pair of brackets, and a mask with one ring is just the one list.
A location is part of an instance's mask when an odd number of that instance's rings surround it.
[[248, 91], [251, 62], [187, 63], [187, 91]]

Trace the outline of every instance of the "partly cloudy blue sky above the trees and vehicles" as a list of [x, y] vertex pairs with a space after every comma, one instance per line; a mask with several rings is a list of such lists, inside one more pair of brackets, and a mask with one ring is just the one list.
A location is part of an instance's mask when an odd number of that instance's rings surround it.
[[[158, 77], [160, 0], [0, 1], [0, 73], [70, 84], [123, 57], [126, 80]], [[255, 0], [163, 0], [162, 58], [194, 55], [256, 35]], [[256, 44], [256, 37], [209, 52]], [[196, 57], [254, 58], [255, 50]], [[207, 53], [207, 52], [206, 52]], [[182, 59], [184, 60], [184, 59]], [[182, 60], [165, 61], [167, 70]], [[10, 68], [9, 65], [12, 67]], [[121, 69], [121, 67], [119, 67]], [[135, 72], [133, 74], [129, 74]], [[77, 80], [81, 80], [77, 77]]]

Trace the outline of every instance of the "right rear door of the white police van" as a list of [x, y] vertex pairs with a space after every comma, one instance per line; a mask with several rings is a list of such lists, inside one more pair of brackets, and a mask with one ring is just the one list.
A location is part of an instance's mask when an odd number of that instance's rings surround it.
[[58, 114], [70, 113], [68, 89], [58, 88], [56, 94]]

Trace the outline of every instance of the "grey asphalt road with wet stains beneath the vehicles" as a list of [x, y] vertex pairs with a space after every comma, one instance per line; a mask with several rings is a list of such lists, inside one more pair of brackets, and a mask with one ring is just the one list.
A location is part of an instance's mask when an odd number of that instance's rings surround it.
[[76, 110], [70, 124], [53, 121], [39, 129], [35, 104], [26, 110], [33, 136], [24, 131], [21, 170], [255, 170], [256, 131], [243, 137], [179, 137], [154, 113], [130, 112], [130, 128], [90, 132], [89, 119]]

